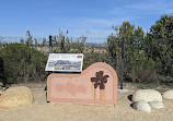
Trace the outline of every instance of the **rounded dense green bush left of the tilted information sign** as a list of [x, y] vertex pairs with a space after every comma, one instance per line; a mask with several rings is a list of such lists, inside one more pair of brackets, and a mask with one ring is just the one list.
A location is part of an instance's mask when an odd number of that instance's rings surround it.
[[10, 44], [0, 52], [0, 78], [8, 84], [42, 81], [47, 58], [22, 44]]

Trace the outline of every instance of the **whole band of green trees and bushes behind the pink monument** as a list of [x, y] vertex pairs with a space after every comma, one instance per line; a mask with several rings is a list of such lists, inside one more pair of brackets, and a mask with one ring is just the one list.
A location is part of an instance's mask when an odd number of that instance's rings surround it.
[[[105, 45], [86, 46], [84, 36], [72, 40], [68, 37], [68, 31], [67, 36], [59, 33], [53, 38], [53, 52], [84, 53], [83, 69], [94, 62], [106, 62], [119, 76], [124, 39], [125, 81], [157, 85], [173, 84], [172, 15], [162, 15], [147, 34], [140, 26], [135, 27], [129, 22], [123, 22], [119, 27], [113, 28], [116, 34], [111, 34]], [[26, 33], [27, 40], [21, 39], [21, 44], [0, 46], [0, 81], [3, 83], [43, 81], [46, 77], [44, 68], [47, 56], [41, 52], [41, 48], [47, 47], [46, 39], [37, 45], [31, 33]]]

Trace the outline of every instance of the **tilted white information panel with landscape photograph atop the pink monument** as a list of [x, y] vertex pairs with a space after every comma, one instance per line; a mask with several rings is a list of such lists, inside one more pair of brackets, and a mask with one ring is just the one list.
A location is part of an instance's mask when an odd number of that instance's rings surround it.
[[81, 72], [82, 53], [49, 53], [45, 71]]

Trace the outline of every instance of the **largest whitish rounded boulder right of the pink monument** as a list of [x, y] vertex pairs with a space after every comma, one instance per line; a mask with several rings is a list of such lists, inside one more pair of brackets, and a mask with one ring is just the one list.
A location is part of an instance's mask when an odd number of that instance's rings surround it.
[[132, 101], [139, 101], [139, 100], [145, 100], [147, 102], [149, 101], [162, 101], [162, 95], [154, 89], [140, 89], [137, 90], [132, 95]]

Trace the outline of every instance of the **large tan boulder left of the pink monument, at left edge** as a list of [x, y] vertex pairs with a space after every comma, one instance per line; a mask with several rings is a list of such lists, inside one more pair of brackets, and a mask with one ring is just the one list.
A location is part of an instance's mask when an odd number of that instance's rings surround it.
[[13, 108], [27, 106], [33, 102], [33, 94], [28, 87], [10, 87], [2, 93], [0, 108]]

